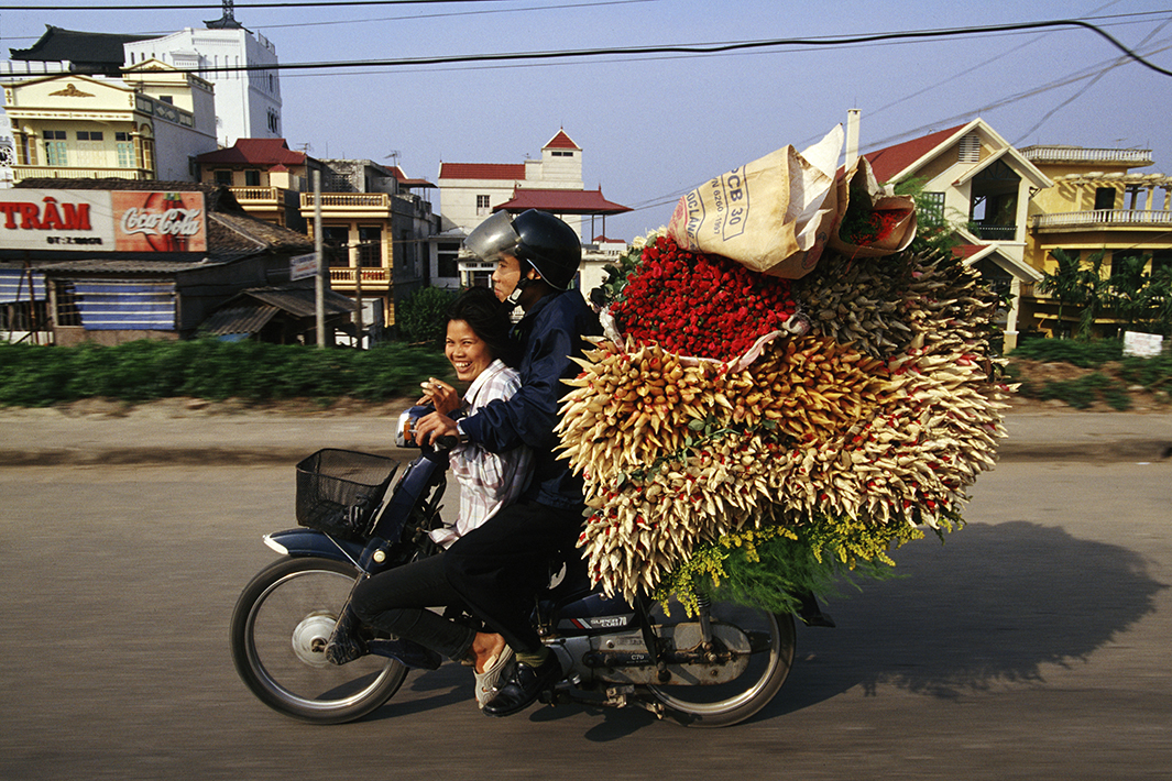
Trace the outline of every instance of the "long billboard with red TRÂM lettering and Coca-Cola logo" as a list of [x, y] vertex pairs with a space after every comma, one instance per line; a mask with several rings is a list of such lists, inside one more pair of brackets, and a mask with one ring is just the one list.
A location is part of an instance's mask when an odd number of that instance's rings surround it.
[[0, 191], [0, 249], [206, 252], [204, 193]]

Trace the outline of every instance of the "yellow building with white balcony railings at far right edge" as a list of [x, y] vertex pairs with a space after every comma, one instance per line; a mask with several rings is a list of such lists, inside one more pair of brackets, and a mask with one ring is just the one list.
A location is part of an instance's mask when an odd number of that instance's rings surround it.
[[[1172, 177], [1132, 173], [1152, 164], [1146, 149], [1027, 146], [1022, 155], [1054, 180], [1030, 200], [1027, 256], [1035, 268], [1054, 273], [1054, 251], [1086, 260], [1103, 252], [1109, 275], [1126, 256], [1151, 256], [1149, 273], [1172, 266]], [[1063, 308], [1036, 288], [1023, 302], [1034, 328], [1050, 336], [1069, 336], [1079, 313]], [[1115, 329], [1112, 317], [1096, 321], [1099, 331]]]

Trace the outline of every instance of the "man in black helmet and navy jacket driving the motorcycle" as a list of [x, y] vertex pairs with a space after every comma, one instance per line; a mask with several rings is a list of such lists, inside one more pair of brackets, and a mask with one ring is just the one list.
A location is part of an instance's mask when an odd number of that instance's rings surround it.
[[573, 554], [585, 511], [582, 482], [553, 448], [558, 444], [558, 400], [563, 379], [578, 374], [582, 336], [601, 334], [598, 317], [571, 289], [581, 262], [581, 241], [568, 225], [530, 210], [517, 218], [498, 212], [477, 227], [464, 246], [496, 262], [493, 292], [519, 306], [520, 389], [462, 420], [432, 416], [417, 431], [421, 441], [458, 436], [500, 452], [526, 444], [533, 450], [530, 489], [515, 505], [458, 540], [444, 562], [449, 583], [485, 623], [504, 636], [517, 663], [484, 712], [509, 715], [531, 705], [556, 683], [560, 665], [530, 621], [537, 592], [548, 580], [548, 564]]

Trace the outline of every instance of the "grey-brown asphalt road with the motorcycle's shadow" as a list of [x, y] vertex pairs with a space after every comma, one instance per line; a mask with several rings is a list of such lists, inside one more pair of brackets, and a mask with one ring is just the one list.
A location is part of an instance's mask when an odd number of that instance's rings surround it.
[[488, 719], [455, 665], [362, 722], [292, 721], [227, 651], [291, 467], [0, 470], [0, 779], [1172, 779], [1168, 470], [982, 475], [966, 529], [833, 600], [778, 698], [718, 731]]

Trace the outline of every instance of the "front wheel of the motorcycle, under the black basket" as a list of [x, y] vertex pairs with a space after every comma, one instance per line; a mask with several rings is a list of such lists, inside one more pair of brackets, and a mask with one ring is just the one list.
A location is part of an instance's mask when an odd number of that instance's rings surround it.
[[265, 705], [314, 724], [342, 724], [398, 691], [407, 667], [393, 659], [366, 656], [341, 666], [326, 660], [326, 642], [357, 575], [329, 559], [282, 559], [240, 594], [232, 612], [232, 659]]

